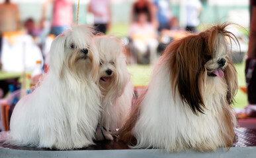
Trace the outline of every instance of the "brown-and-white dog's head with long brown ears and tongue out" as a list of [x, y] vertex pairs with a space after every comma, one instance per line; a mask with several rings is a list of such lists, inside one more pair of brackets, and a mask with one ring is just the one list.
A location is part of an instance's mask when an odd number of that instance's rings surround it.
[[228, 44], [228, 39], [236, 38], [225, 30], [226, 26], [214, 26], [200, 34], [174, 41], [162, 58], [169, 60], [173, 90], [177, 88], [181, 99], [196, 115], [204, 111], [202, 95], [207, 88], [206, 80], [226, 82], [228, 104], [232, 103], [237, 91], [237, 76]]

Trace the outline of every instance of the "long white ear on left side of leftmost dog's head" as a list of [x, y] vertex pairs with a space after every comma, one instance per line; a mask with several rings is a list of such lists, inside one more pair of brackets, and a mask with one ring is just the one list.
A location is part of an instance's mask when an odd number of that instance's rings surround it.
[[61, 34], [54, 39], [50, 48], [50, 70], [58, 77], [62, 76], [65, 59], [64, 47], [65, 35]]

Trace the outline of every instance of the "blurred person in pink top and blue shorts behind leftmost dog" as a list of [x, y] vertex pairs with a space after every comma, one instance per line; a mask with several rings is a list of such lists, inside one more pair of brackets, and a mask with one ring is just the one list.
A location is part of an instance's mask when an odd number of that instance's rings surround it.
[[46, 0], [42, 9], [41, 24], [43, 28], [46, 23], [46, 11], [50, 3], [53, 4], [50, 34], [58, 36], [73, 22], [73, 0]]

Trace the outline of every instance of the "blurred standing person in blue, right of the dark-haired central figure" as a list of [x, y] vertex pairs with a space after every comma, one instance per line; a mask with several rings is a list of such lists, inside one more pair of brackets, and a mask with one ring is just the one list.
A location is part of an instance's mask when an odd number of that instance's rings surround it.
[[159, 22], [158, 30], [170, 29], [171, 23], [171, 3], [169, 0], [155, 0], [157, 7], [157, 20]]

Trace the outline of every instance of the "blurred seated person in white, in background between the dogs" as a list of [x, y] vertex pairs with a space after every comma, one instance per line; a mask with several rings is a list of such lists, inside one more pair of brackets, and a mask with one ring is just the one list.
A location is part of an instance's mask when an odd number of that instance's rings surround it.
[[138, 13], [137, 21], [130, 26], [129, 36], [136, 49], [136, 61], [141, 64], [154, 63], [157, 55], [157, 33], [153, 24], [148, 22], [146, 12]]

